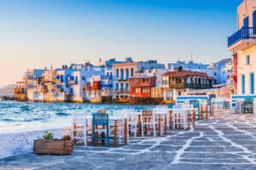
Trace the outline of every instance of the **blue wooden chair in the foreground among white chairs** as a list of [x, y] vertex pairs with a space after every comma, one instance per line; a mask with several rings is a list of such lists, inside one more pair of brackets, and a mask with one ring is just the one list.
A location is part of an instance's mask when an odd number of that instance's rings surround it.
[[[96, 135], [99, 130], [97, 127], [102, 127], [106, 129], [105, 134], [102, 132], [100, 135]], [[94, 113], [92, 114], [92, 144], [96, 146], [96, 141], [107, 140], [107, 146], [109, 146], [109, 126], [108, 126], [108, 114], [106, 113]]]

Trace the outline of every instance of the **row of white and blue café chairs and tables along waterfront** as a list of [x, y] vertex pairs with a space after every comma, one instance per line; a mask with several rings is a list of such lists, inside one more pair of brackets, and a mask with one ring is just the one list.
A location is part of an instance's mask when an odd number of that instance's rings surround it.
[[129, 144], [130, 138], [156, 138], [176, 130], [193, 130], [196, 121], [208, 119], [217, 109], [203, 99], [185, 99], [177, 105], [141, 110], [73, 113], [72, 139], [84, 146]]

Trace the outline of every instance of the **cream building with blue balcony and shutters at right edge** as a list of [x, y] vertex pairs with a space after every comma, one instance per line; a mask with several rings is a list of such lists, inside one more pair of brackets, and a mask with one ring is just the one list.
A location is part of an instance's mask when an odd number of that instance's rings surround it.
[[237, 8], [237, 30], [228, 38], [228, 49], [233, 52], [236, 94], [255, 94], [255, 0], [244, 0]]

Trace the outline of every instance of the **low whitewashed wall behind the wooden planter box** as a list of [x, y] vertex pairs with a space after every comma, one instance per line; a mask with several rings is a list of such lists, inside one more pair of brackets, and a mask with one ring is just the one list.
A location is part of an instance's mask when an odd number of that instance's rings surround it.
[[70, 134], [70, 128], [67, 127], [19, 133], [0, 133], [0, 159], [32, 152], [34, 139], [42, 138], [45, 131], [53, 133], [55, 139], [61, 139], [63, 135]]

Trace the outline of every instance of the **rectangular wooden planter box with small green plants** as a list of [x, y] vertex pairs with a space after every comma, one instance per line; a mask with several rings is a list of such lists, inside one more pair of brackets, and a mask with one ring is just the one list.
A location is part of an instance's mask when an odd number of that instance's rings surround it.
[[69, 135], [54, 139], [53, 133], [45, 132], [43, 139], [34, 140], [35, 154], [69, 155], [73, 152], [73, 141]]

